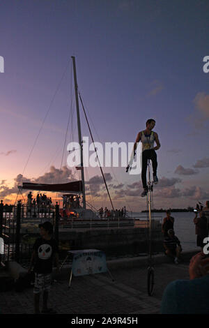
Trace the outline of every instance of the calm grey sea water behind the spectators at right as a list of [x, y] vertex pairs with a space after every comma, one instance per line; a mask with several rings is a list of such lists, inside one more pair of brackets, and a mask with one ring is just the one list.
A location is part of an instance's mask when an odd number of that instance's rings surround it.
[[[146, 213], [133, 212], [132, 216], [145, 218]], [[153, 217], [157, 220], [163, 220], [166, 216], [166, 213], [153, 214]], [[195, 214], [193, 212], [171, 212], [171, 216], [174, 218], [173, 229], [180, 240], [183, 251], [200, 250], [200, 248], [196, 246], [195, 225], [193, 222]]]

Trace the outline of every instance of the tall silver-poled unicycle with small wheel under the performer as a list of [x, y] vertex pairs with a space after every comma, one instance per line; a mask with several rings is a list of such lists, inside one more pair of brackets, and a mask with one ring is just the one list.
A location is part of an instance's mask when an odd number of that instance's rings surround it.
[[148, 270], [147, 270], [147, 291], [149, 296], [153, 296], [154, 292], [154, 268], [152, 258], [152, 221], [153, 221], [153, 181], [150, 180], [150, 160], [148, 160], [148, 193], [146, 196], [148, 207], [148, 223], [149, 223], [149, 237], [148, 237]]

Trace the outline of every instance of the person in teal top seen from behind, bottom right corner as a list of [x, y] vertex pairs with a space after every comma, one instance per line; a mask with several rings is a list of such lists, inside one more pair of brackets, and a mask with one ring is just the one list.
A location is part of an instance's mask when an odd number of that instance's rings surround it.
[[176, 280], [167, 285], [162, 296], [160, 313], [207, 313], [209, 308], [209, 258], [198, 253], [189, 264], [189, 280]]

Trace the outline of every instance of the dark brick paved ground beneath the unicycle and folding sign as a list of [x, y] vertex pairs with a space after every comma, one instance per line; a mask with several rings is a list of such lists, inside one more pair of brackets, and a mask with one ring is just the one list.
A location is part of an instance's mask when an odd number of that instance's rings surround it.
[[[189, 278], [188, 262], [155, 265], [155, 290], [147, 295], [146, 267], [111, 269], [109, 274], [72, 277], [67, 275], [52, 285], [49, 306], [58, 314], [151, 314], [160, 313], [164, 288], [178, 278]], [[42, 304], [42, 302], [41, 302]], [[1, 292], [2, 314], [33, 314], [33, 288], [23, 292]]]

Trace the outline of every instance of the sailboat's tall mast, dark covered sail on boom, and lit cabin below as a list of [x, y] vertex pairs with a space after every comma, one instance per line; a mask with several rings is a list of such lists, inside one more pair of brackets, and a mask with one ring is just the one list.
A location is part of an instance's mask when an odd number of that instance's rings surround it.
[[[80, 146], [80, 160], [81, 164], [79, 170], [81, 170], [82, 179], [79, 181], [68, 182], [67, 184], [33, 184], [29, 182], [23, 182], [22, 186], [18, 186], [20, 190], [30, 191], [48, 191], [54, 193], [63, 193], [63, 208], [60, 209], [61, 217], [63, 218], [95, 218], [97, 214], [92, 209], [86, 209], [86, 193], [85, 193], [85, 181], [84, 181], [84, 160], [83, 160], [83, 147], [82, 147], [82, 131], [79, 115], [79, 97], [77, 86], [77, 72], [75, 66], [75, 57], [72, 56], [74, 84], [75, 84], [75, 100], [77, 109], [77, 128], [79, 136]], [[82, 195], [83, 206], [79, 204], [80, 196]], [[76, 201], [74, 200], [76, 197]]]

